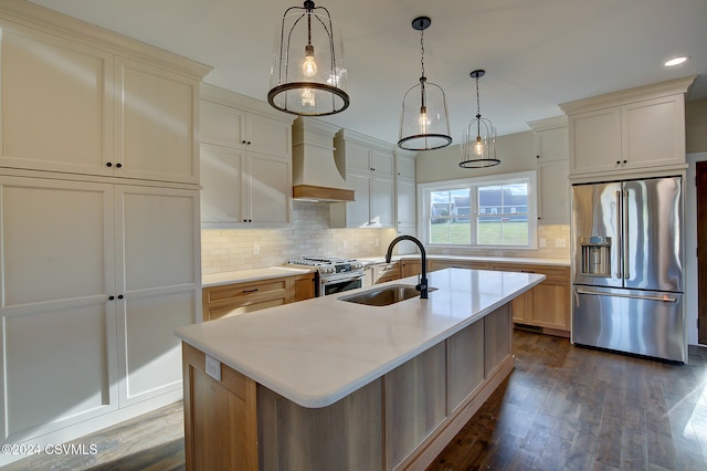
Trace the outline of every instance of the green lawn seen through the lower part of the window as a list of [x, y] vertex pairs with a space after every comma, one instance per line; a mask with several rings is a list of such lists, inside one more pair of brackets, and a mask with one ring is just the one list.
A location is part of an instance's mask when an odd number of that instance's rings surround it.
[[[468, 222], [432, 224], [431, 243], [469, 244], [471, 226]], [[528, 243], [527, 222], [481, 222], [478, 228], [479, 245], [526, 245]]]

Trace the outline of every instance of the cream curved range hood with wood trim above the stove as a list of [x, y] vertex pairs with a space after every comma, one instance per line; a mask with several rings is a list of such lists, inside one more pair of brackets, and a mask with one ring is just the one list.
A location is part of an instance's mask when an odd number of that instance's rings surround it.
[[354, 201], [334, 158], [338, 127], [299, 116], [292, 127], [292, 195], [306, 201]]

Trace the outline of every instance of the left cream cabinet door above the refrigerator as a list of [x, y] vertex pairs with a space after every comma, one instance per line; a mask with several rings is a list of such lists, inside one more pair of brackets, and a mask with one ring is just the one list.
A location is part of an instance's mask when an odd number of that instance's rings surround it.
[[570, 121], [570, 172], [588, 174], [621, 168], [619, 107], [579, 113]]

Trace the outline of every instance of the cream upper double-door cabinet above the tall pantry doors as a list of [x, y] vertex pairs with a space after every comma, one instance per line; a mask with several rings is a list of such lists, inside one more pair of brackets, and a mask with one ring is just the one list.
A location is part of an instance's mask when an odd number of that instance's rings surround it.
[[199, 182], [199, 80], [34, 30], [2, 30], [0, 166]]

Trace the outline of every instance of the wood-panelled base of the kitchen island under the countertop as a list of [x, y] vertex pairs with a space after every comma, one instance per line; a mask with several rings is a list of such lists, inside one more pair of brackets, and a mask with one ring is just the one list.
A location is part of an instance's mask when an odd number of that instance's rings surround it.
[[337, 402], [302, 407], [182, 343], [188, 470], [424, 470], [514, 368], [510, 303]]

